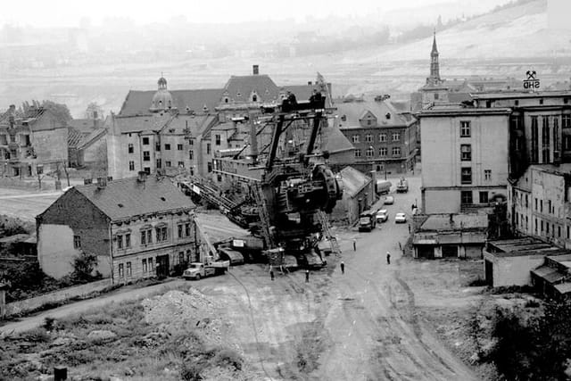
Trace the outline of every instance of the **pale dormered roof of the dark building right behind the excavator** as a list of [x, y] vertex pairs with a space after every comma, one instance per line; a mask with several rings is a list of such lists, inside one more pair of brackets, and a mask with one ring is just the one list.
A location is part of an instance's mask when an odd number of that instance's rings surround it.
[[[335, 104], [335, 106], [340, 119], [339, 128], [342, 129], [363, 128], [360, 119], [368, 112], [377, 118], [377, 127], [379, 128], [406, 127], [415, 120], [410, 116], [403, 115], [403, 112], [399, 112], [391, 102], [387, 101], [346, 102]], [[343, 119], [345, 120], [343, 121]], [[376, 126], [370, 126], [370, 128], [374, 127]]]

